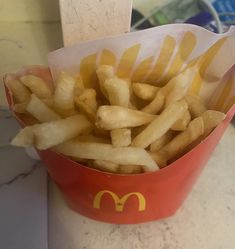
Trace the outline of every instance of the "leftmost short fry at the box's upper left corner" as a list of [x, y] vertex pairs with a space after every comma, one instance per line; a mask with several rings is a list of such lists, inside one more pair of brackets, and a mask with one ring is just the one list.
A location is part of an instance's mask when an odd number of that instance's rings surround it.
[[6, 83], [7, 88], [12, 92], [16, 103], [27, 103], [30, 99], [30, 91], [19, 80], [11, 80]]

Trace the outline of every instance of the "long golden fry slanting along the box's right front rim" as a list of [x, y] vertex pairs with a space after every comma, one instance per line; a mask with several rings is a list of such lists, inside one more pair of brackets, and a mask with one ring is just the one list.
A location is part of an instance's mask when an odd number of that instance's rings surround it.
[[161, 150], [156, 152], [153, 159], [160, 167], [164, 167], [169, 160], [179, 157], [187, 146], [196, 141], [204, 133], [204, 122], [202, 117], [192, 120], [188, 128], [174, 137]]

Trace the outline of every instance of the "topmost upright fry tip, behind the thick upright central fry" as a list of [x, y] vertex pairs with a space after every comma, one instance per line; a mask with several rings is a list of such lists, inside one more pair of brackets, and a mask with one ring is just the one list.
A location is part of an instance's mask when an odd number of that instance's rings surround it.
[[108, 94], [104, 87], [105, 80], [114, 77], [114, 69], [110, 65], [100, 65], [96, 69], [96, 74], [99, 79], [100, 91], [108, 99]]

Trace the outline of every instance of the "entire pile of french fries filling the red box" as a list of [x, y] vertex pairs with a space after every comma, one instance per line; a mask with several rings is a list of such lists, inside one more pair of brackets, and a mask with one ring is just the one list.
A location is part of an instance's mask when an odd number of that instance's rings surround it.
[[52, 149], [105, 172], [139, 174], [169, 165], [225, 118], [187, 93], [192, 68], [163, 87], [119, 78], [109, 65], [98, 66], [96, 74], [95, 89], [67, 72], [54, 90], [34, 75], [7, 82], [12, 109], [34, 120], [11, 144]]

